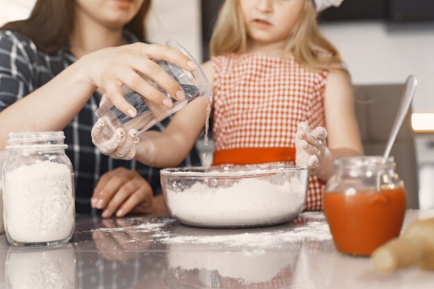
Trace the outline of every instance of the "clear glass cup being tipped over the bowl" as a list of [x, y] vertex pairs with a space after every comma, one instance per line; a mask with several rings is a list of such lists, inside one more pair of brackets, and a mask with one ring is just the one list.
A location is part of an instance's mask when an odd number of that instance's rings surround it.
[[164, 107], [164, 105], [159, 105], [147, 100], [136, 91], [130, 89], [128, 86], [124, 85], [122, 87], [122, 93], [125, 99], [135, 107], [137, 114], [134, 117], [130, 117], [117, 109], [111, 100], [107, 100], [101, 107], [96, 110], [95, 114], [98, 119], [105, 119], [107, 125], [105, 126], [104, 133], [106, 137], [110, 138], [114, 135], [114, 132], [118, 128], [125, 128], [126, 131], [131, 129], [136, 129], [139, 133], [148, 130], [153, 127], [155, 123], [166, 119], [166, 117], [174, 114], [182, 107], [184, 107], [189, 101], [193, 100], [198, 96], [211, 96], [211, 87], [209, 82], [200, 69], [200, 65], [194, 58], [190, 55], [184, 47], [179, 43], [168, 40], [166, 45], [171, 46], [185, 55], [187, 55], [193, 62], [195, 62], [198, 69], [195, 71], [186, 71], [177, 65], [166, 62], [164, 60], [156, 61], [159, 66], [161, 66], [164, 71], [166, 71], [170, 76], [172, 76], [184, 90], [186, 98], [184, 100], [176, 100], [170, 94], [168, 94], [164, 89], [159, 87], [156, 82], [141, 75], [146, 81], [155, 87], [157, 90], [165, 94], [173, 102], [173, 106], [170, 108]]

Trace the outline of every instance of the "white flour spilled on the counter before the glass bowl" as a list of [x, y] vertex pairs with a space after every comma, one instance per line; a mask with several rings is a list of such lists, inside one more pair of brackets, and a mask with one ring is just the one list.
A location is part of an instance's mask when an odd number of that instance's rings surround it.
[[[308, 214], [306, 216], [304, 214], [301, 213], [299, 218], [310, 216], [309, 213], [306, 213]], [[323, 215], [319, 213], [318, 218], [320, 216]], [[177, 225], [177, 222], [171, 218], [157, 220], [134, 218], [134, 222], [130, 226], [99, 228], [91, 231], [105, 234], [146, 233], [139, 235], [139, 237], [132, 234], [129, 240], [131, 242], [137, 240], [167, 245], [209, 245], [211, 247], [219, 245], [226, 249], [242, 247], [245, 251], [284, 247], [290, 243], [302, 242], [304, 239], [317, 242], [331, 240], [327, 222], [306, 222], [301, 226], [294, 226], [289, 223], [288, 227], [282, 226], [259, 229], [198, 229]]]

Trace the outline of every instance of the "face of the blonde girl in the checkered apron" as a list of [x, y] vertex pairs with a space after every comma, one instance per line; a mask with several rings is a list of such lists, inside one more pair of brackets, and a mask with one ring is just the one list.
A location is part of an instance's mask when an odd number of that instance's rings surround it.
[[297, 24], [304, 1], [311, 0], [239, 0], [248, 35], [264, 43], [286, 40]]

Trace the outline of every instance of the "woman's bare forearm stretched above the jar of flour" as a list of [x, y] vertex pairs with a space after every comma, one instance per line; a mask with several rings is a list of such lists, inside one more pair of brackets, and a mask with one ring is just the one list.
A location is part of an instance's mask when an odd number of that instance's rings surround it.
[[8, 132], [63, 130], [96, 89], [85, 69], [80, 61], [72, 64], [0, 112], [0, 150], [6, 146]]

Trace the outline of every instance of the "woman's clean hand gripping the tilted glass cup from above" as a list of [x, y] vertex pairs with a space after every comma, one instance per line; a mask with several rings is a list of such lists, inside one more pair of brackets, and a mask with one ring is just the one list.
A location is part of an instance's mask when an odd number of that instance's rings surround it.
[[86, 79], [94, 89], [102, 89], [112, 103], [124, 114], [134, 117], [137, 110], [128, 103], [121, 91], [127, 85], [154, 103], [172, 107], [172, 101], [151, 86], [139, 73], [154, 80], [173, 98], [183, 100], [184, 91], [180, 85], [153, 60], [166, 60], [182, 69], [193, 71], [196, 64], [184, 53], [170, 46], [134, 43], [101, 49], [80, 58], [78, 62], [86, 71]]

